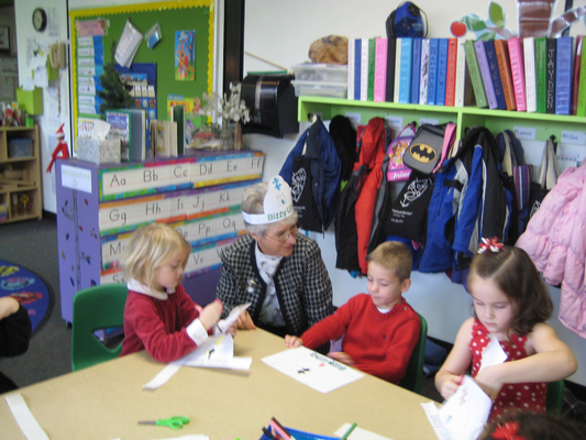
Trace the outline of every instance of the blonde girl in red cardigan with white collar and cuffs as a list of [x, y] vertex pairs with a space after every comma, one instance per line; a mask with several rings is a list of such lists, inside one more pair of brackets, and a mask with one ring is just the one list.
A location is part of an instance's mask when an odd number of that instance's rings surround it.
[[[146, 350], [157, 361], [172, 362], [213, 333], [222, 302], [200, 307], [181, 286], [190, 251], [185, 238], [166, 224], [153, 223], [132, 234], [122, 260], [129, 296], [121, 355]], [[235, 326], [226, 332], [235, 336]]]

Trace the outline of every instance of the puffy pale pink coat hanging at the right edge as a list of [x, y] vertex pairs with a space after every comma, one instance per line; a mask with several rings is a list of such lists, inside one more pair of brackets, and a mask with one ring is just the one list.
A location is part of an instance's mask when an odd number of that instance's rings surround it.
[[527, 251], [543, 278], [562, 285], [560, 321], [586, 338], [586, 165], [567, 168], [543, 199], [517, 246]]

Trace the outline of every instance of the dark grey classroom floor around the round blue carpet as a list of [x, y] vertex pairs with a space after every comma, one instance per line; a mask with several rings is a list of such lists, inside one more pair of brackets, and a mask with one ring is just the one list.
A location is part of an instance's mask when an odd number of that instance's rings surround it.
[[[0, 224], [0, 258], [20, 264], [44, 278], [53, 290], [51, 316], [32, 338], [29, 351], [0, 361], [2, 373], [19, 386], [32, 385], [71, 372], [71, 330], [62, 318], [57, 222], [53, 215], [42, 220]], [[422, 394], [441, 400], [433, 378], [423, 381]]]

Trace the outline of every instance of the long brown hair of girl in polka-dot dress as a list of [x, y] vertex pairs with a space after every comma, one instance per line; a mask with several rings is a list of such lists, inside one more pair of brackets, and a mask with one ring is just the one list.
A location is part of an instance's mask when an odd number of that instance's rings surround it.
[[504, 246], [498, 252], [486, 251], [472, 261], [468, 284], [473, 276], [491, 279], [515, 304], [516, 317], [511, 329], [527, 334], [538, 322], [552, 316], [553, 302], [548, 286], [531, 261], [520, 248]]

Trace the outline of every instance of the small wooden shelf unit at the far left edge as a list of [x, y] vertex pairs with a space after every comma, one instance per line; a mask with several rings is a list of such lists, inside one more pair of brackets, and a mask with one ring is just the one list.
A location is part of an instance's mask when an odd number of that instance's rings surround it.
[[38, 127], [0, 127], [0, 224], [41, 219]]

